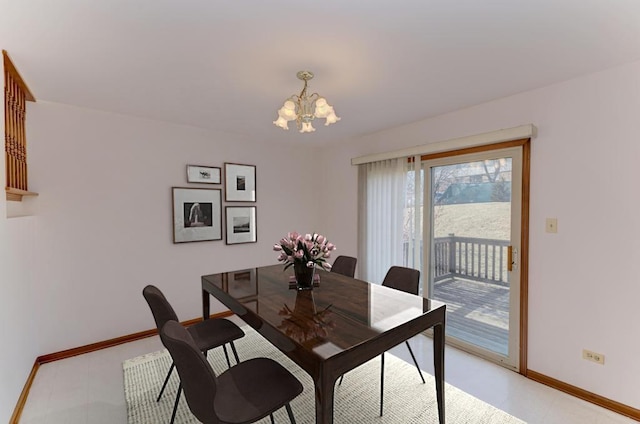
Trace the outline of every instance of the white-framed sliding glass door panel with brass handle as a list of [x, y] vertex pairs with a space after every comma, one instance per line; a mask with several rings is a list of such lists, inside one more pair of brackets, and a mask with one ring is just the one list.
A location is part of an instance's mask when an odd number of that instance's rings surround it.
[[522, 148], [427, 158], [422, 170], [424, 295], [447, 303], [450, 343], [517, 368]]

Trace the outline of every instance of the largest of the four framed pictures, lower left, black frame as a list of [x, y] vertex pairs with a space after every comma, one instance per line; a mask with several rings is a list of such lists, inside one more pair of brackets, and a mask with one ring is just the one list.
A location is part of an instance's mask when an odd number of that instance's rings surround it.
[[220, 189], [173, 187], [173, 242], [222, 240]]

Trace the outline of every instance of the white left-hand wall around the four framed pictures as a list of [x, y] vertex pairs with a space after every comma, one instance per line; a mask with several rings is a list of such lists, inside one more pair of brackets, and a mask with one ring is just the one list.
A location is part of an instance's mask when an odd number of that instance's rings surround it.
[[[47, 102], [29, 105], [27, 127], [29, 188], [40, 195], [25, 205], [33, 216], [0, 219], [0, 310], [3, 326], [8, 318], [14, 326], [3, 332], [10, 393], [0, 421], [37, 356], [153, 328], [146, 284], [165, 291], [181, 319], [196, 318], [201, 275], [276, 263], [277, 240], [318, 228], [310, 147]], [[258, 242], [173, 244], [171, 187], [210, 188], [187, 184], [186, 164], [225, 161], [257, 166]], [[24, 268], [10, 268], [12, 258]], [[212, 303], [212, 312], [222, 309]]]

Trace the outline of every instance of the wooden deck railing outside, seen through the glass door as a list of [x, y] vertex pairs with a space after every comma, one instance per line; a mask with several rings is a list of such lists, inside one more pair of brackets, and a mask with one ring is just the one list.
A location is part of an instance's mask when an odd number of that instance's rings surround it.
[[[460, 277], [486, 283], [509, 285], [508, 240], [457, 237], [449, 234], [434, 240], [434, 280]], [[408, 243], [405, 243], [405, 258]], [[420, 246], [422, 258], [422, 245]]]

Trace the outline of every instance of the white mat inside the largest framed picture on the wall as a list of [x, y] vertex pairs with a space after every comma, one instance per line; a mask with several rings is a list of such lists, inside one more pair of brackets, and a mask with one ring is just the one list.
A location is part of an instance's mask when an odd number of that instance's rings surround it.
[[[185, 203], [211, 203], [211, 226], [185, 227]], [[222, 195], [220, 189], [173, 187], [173, 242], [222, 240]]]

